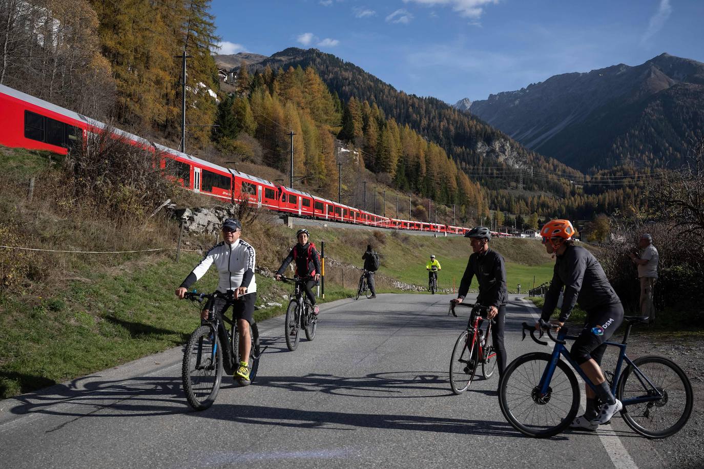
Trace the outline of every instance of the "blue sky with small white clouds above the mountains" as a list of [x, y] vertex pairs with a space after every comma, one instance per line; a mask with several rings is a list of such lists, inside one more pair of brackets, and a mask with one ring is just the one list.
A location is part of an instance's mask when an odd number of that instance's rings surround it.
[[702, 0], [213, 0], [221, 53], [315, 47], [448, 103], [566, 72], [704, 61]]

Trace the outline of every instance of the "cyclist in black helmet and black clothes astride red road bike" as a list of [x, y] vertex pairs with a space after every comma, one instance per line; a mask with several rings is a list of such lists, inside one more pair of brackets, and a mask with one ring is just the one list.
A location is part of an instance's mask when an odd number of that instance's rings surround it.
[[479, 282], [479, 296], [477, 303], [489, 307], [487, 317], [494, 319], [496, 325], [491, 326], [491, 338], [496, 347], [496, 364], [498, 365], [498, 375], [503, 375], [506, 368], [506, 349], [503, 346], [503, 328], [506, 316], [506, 268], [503, 256], [498, 252], [489, 249], [491, 231], [484, 226], [477, 226], [465, 234], [465, 238], [472, 240], [472, 250], [470, 260], [467, 262], [467, 269], [460, 281], [457, 300], [461, 303], [472, 284], [472, 277], [477, 276]]

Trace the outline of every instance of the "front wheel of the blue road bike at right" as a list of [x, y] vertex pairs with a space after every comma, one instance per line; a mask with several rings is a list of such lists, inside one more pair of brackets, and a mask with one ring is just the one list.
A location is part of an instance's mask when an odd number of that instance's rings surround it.
[[552, 437], [565, 430], [579, 411], [579, 385], [574, 371], [558, 360], [548, 392], [541, 394], [540, 380], [551, 354], [533, 352], [519, 356], [506, 368], [498, 383], [498, 404], [508, 423], [529, 437]]

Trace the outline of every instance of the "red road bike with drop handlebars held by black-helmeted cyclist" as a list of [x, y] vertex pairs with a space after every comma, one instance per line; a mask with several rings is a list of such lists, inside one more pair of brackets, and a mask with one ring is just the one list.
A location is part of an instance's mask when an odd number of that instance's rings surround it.
[[484, 379], [491, 378], [496, 368], [496, 349], [491, 342], [491, 324], [494, 321], [487, 321], [486, 331], [480, 327], [480, 323], [486, 321], [482, 314], [486, 314], [489, 308], [478, 303], [450, 302], [450, 312], [455, 317], [455, 307], [458, 305], [472, 308], [467, 329], [457, 338], [450, 359], [450, 387], [455, 394], [462, 394], [472, 384], [479, 364], [482, 364]]

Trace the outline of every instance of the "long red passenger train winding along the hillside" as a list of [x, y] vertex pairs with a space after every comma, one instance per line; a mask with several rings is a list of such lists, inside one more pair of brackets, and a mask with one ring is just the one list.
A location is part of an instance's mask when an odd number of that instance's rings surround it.
[[[68, 149], [83, 144], [88, 132], [99, 132], [106, 124], [68, 109], [34, 98], [8, 86], [0, 85], [0, 144], [15, 148], [50, 150], [65, 155]], [[343, 221], [401, 230], [464, 234], [462, 226], [427, 223], [382, 217], [355, 207], [333, 202], [310, 193], [297, 191], [235, 169], [181, 153], [142, 139], [125, 131], [122, 137], [142, 148], [158, 151], [174, 161], [174, 174], [191, 191], [222, 200], [249, 200], [265, 207], [298, 217]], [[162, 161], [164, 167], [164, 161]], [[498, 233], [496, 233], [498, 234]]]

